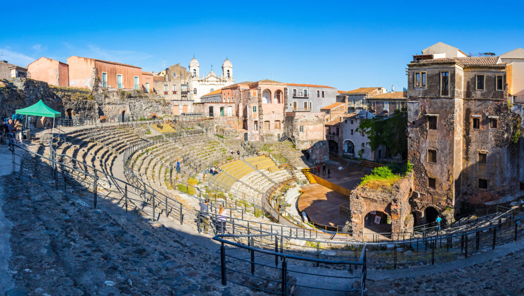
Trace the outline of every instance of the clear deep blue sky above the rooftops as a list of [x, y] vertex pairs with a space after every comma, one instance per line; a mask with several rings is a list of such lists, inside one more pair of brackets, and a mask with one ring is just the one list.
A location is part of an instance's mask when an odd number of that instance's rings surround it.
[[[233, 63], [237, 82], [273, 79], [339, 90], [406, 87], [413, 54], [442, 41], [468, 52], [524, 47], [519, 2], [387, 1], [6, 1], [2, 59], [27, 66], [40, 57], [82, 56], [144, 71], [200, 73]], [[512, 21], [511, 19], [514, 19]]]

